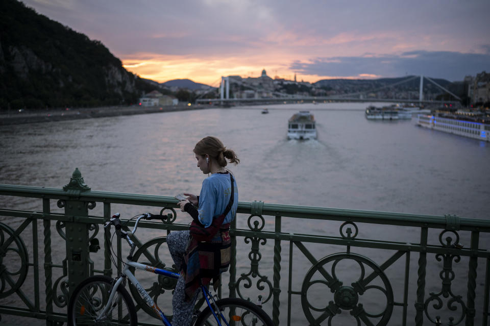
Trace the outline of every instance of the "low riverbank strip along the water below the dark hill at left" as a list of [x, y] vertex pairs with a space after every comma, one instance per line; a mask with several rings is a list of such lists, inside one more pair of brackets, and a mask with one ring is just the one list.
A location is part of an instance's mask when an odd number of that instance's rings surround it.
[[140, 107], [140, 106], [113, 106], [100, 108], [65, 108], [65, 109], [37, 109], [19, 111], [0, 112], [0, 126], [11, 124], [35, 123], [35, 122], [54, 122], [76, 119], [90, 119], [101, 117], [112, 117], [120, 115], [163, 113], [173, 111], [203, 110], [214, 106], [211, 105], [176, 105], [162, 107]]

